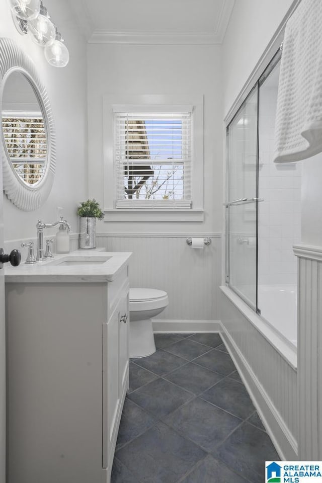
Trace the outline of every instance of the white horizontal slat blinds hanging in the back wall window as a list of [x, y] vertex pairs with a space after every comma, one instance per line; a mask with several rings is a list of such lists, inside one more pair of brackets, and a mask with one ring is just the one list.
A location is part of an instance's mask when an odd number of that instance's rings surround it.
[[116, 208], [191, 208], [191, 130], [191, 112], [114, 112]]

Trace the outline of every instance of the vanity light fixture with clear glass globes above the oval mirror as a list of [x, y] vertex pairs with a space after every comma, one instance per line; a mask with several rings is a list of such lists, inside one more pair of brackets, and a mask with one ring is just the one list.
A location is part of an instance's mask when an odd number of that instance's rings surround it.
[[45, 48], [45, 57], [54, 67], [65, 67], [69, 52], [42, 0], [8, 0], [16, 28], [29, 32], [32, 40]]

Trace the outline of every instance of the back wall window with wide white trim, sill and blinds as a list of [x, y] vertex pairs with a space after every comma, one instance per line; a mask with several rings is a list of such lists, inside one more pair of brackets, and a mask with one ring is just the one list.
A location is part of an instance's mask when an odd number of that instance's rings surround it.
[[105, 221], [203, 220], [203, 96], [104, 96]]

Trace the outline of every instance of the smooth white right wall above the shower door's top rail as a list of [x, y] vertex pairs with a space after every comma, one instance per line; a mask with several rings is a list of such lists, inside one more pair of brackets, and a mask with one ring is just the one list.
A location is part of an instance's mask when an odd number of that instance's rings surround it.
[[237, 0], [223, 41], [224, 114], [243, 88], [292, 0]]

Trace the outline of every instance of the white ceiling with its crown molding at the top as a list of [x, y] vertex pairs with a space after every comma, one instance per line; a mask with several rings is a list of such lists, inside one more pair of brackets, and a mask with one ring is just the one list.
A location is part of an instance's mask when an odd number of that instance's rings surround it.
[[91, 43], [221, 43], [235, 0], [69, 0]]

